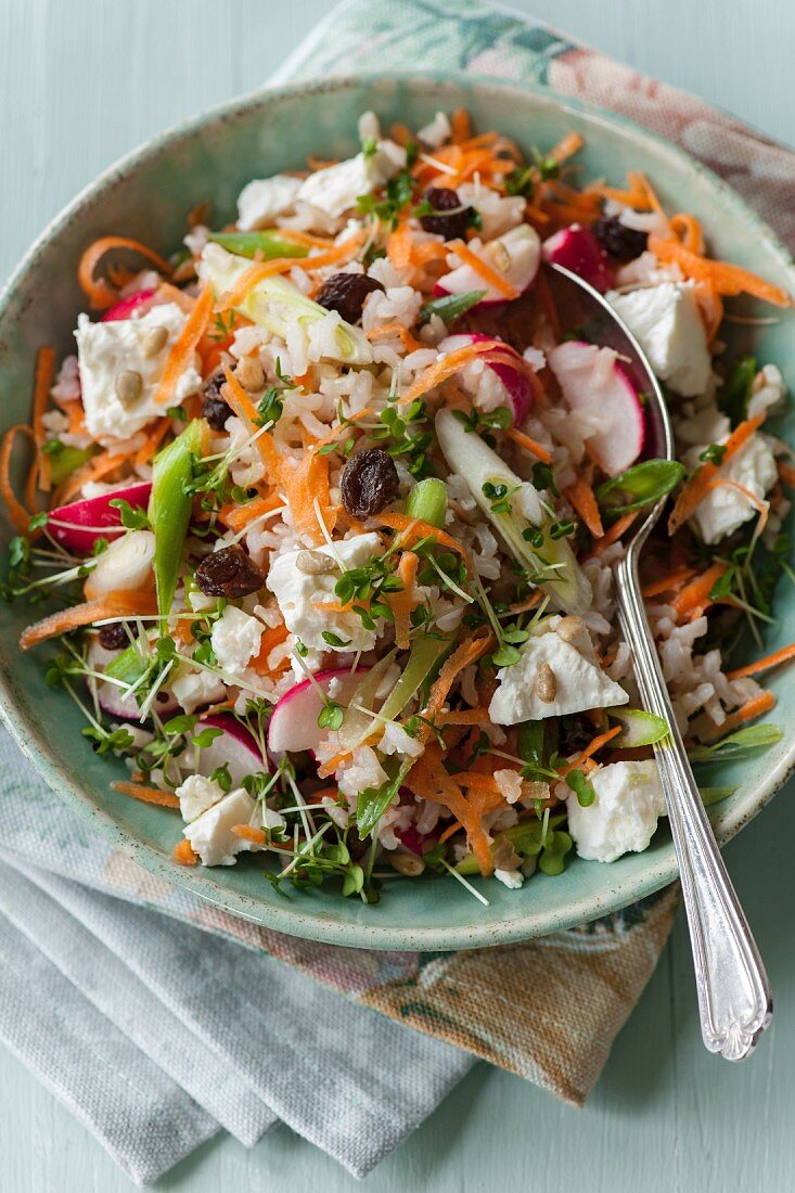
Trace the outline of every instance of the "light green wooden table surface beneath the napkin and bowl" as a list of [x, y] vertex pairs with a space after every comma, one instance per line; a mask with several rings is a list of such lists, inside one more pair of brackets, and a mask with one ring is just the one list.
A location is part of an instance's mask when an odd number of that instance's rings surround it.
[[[795, 142], [790, 0], [513, 7]], [[0, 276], [109, 162], [258, 86], [327, 8], [326, 0], [0, 0]], [[481, 1065], [368, 1179], [368, 1193], [795, 1189], [794, 799], [793, 787], [782, 792], [726, 851], [776, 995], [775, 1026], [750, 1062], [732, 1067], [702, 1049], [679, 923], [584, 1111]], [[251, 1151], [218, 1138], [160, 1187], [360, 1188], [283, 1129]], [[2, 1193], [130, 1188], [93, 1137], [0, 1049]]]

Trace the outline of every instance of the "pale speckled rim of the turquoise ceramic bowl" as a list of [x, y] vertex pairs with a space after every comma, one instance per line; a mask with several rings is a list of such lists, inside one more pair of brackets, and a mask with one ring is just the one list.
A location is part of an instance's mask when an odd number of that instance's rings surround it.
[[[307, 79], [276, 87], [266, 86], [257, 88], [255, 91], [215, 104], [141, 142], [84, 186], [74, 198], [48, 221], [0, 289], [0, 316], [5, 314], [17, 286], [35, 266], [37, 256], [49, 241], [64, 230], [73, 220], [79, 217], [84, 206], [94, 200], [105, 186], [134, 172], [137, 166], [167, 149], [168, 146], [190, 137], [216, 120], [235, 117], [272, 99], [320, 97], [329, 91], [355, 89], [368, 85], [374, 87], [378, 85], [388, 86], [392, 82], [426, 88], [429, 93], [440, 92], [445, 86], [460, 86], [464, 89], [479, 88], [503, 94], [530, 95], [536, 103], [543, 106], [565, 112], [568, 111], [573, 116], [585, 115], [591, 124], [596, 124], [597, 126], [603, 125], [608, 129], [620, 128], [624, 132], [651, 142], [655, 146], [657, 152], [662, 157], [667, 157], [676, 168], [679, 171], [685, 169], [704, 180], [713, 193], [720, 197], [721, 202], [734, 209], [737, 215], [752, 228], [760, 240], [766, 242], [769, 249], [778, 258], [783, 272], [789, 274], [791, 288], [795, 290], [795, 262], [793, 255], [772, 229], [714, 171], [691, 157], [678, 146], [672, 144], [660, 134], [637, 124], [622, 113], [612, 112], [579, 97], [561, 94], [530, 80], [505, 80], [498, 76], [487, 74], [475, 75], [462, 70], [388, 70], [332, 75], [328, 79]], [[267, 914], [263, 915], [264, 904], [260, 901], [251, 898], [240, 891], [218, 888], [211, 878], [205, 877], [203, 869], [189, 870], [174, 866], [164, 853], [135, 837], [132, 833], [117, 823], [110, 811], [94, 803], [72, 778], [61, 771], [55, 750], [37, 740], [36, 733], [29, 724], [27, 718], [18, 712], [13, 701], [11, 684], [7, 675], [2, 672], [0, 672], [0, 717], [19, 748], [49, 786], [57, 791], [68, 802], [69, 806], [74, 808], [87, 822], [95, 826], [105, 837], [109, 837], [116, 849], [132, 858], [146, 870], [164, 878], [171, 885], [190, 891], [216, 908], [240, 919], [258, 923], [267, 929], [284, 932], [303, 939], [322, 940], [326, 944], [359, 948], [445, 952], [517, 944], [535, 937], [546, 935], [550, 932], [587, 923], [608, 913], [618, 911], [635, 903], [637, 900], [653, 895], [677, 878], [676, 859], [672, 860], [672, 849], [668, 848], [659, 854], [642, 877], [630, 880], [623, 879], [614, 888], [606, 885], [605, 895], [587, 895], [568, 900], [565, 904], [565, 914], [554, 916], [547, 913], [543, 922], [535, 926], [532, 922], [529, 922], [534, 919], [532, 910], [524, 919], [500, 920], [482, 925], [474, 922], [469, 926], [455, 928], [383, 927], [375, 923], [345, 923], [337, 921], [333, 915], [328, 914], [326, 908], [318, 909], [313, 907], [310, 911], [306, 911], [291, 908], [286, 901], [284, 901], [284, 904], [279, 903], [278, 905], [267, 904]], [[734, 809], [732, 815], [726, 817], [717, 816], [713, 820], [719, 843], [723, 845], [762, 811], [793, 773], [795, 773], [795, 735], [777, 764], [752, 789], [753, 795], [748, 793], [744, 798], [742, 805]], [[627, 889], [628, 885], [630, 888], [629, 891]], [[329, 901], [326, 907], [333, 910], [333, 905]]]

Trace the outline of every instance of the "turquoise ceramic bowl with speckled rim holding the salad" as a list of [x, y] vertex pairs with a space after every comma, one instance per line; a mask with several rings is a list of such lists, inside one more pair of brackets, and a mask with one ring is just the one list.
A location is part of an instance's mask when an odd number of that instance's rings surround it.
[[[588, 177], [623, 179], [628, 168], [648, 173], [673, 210], [698, 216], [716, 255], [748, 266], [795, 292], [795, 270], [785, 249], [740, 199], [679, 150], [627, 120], [526, 86], [437, 75], [335, 79], [235, 100], [201, 116], [131, 154], [80, 194], [47, 228], [8, 283], [0, 301], [0, 390], [2, 427], [25, 422], [36, 350], [72, 348], [72, 328], [82, 296], [75, 282], [81, 251], [95, 236], [123, 233], [168, 253], [178, 245], [185, 214], [211, 198], [216, 222], [234, 215], [235, 197], [252, 177], [301, 167], [319, 149], [329, 156], [355, 152], [359, 113], [374, 109], [386, 124], [401, 119], [419, 128], [438, 109], [464, 105], [481, 129], [499, 129], [525, 150], [542, 148], [580, 129], [580, 155]], [[745, 308], [746, 310], [750, 308]], [[732, 347], [753, 348], [777, 363], [795, 384], [795, 316], [776, 326], [741, 329]], [[781, 434], [794, 429], [794, 415]], [[8, 533], [8, 527], [5, 527]], [[795, 638], [795, 593], [782, 596], [781, 624], [770, 649]], [[481, 883], [481, 907], [452, 879], [396, 880], [376, 907], [319, 891], [276, 894], [255, 861], [232, 869], [184, 870], [171, 861], [179, 822], [162, 809], [115, 795], [109, 783], [119, 762], [97, 758], [80, 735], [78, 711], [64, 693], [45, 687], [43, 650], [20, 654], [16, 642], [29, 610], [5, 611], [0, 684], [7, 722], [27, 756], [75, 811], [148, 870], [211, 903], [269, 928], [339, 945], [374, 948], [451, 950], [506, 944], [542, 935], [624, 907], [676, 877], [665, 829], [642, 854], [614, 865], [574, 859], [559, 878], [534, 877], [523, 890]], [[737, 786], [717, 805], [714, 824], [726, 841], [782, 785], [795, 759], [795, 685], [791, 672], [770, 680], [778, 697], [774, 713], [784, 740], [764, 755], [713, 766], [704, 781]]]

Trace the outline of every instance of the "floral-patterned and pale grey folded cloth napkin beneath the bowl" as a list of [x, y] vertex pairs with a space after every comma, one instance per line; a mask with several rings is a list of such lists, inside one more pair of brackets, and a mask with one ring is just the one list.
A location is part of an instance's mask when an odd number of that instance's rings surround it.
[[[624, 112], [795, 242], [791, 153], [477, 0], [346, 0], [278, 81], [366, 69], [376, 52], [383, 69], [534, 80]], [[676, 910], [668, 889], [543, 940], [455, 954], [313, 944], [141, 870], [1, 731], [0, 767], [0, 1039], [138, 1182], [221, 1129], [251, 1145], [279, 1120], [364, 1175], [475, 1057], [581, 1105]]]

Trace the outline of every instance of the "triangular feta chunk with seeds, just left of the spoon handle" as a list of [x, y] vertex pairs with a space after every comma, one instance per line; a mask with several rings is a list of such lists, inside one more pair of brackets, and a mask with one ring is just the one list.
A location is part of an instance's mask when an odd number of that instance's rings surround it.
[[[606, 675], [593, 655], [585, 626], [571, 635], [573, 618], [553, 617], [522, 647], [522, 657], [512, 667], [503, 667], [499, 685], [488, 715], [497, 725], [517, 725], [522, 721], [542, 721], [586, 709], [608, 709], [627, 704], [628, 694]], [[556, 632], [566, 623], [566, 637]], [[555, 678], [555, 697], [542, 700], [536, 679], [542, 663], [548, 663]]]

